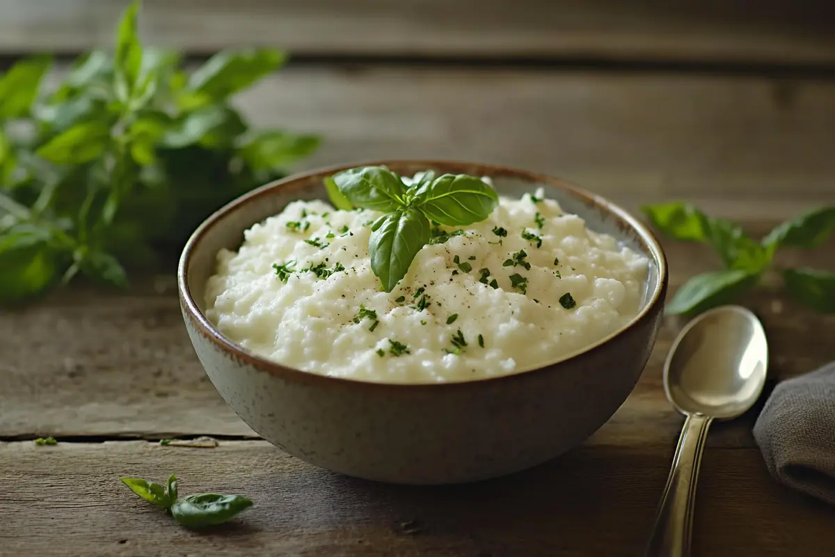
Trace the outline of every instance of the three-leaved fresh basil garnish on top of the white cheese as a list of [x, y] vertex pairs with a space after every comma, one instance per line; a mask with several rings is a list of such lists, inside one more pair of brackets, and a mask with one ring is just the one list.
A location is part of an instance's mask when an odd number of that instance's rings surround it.
[[469, 175], [436, 176], [427, 171], [413, 185], [383, 166], [345, 170], [325, 180], [338, 209], [361, 207], [385, 213], [372, 224], [371, 268], [385, 291], [406, 276], [417, 252], [432, 239], [432, 222], [472, 225], [498, 205], [495, 190]]

